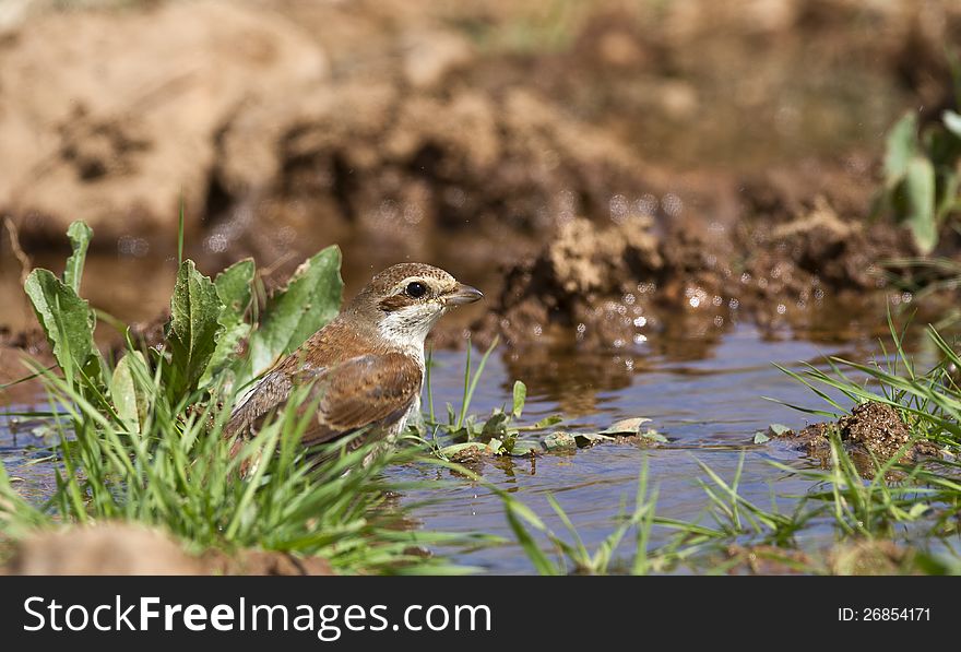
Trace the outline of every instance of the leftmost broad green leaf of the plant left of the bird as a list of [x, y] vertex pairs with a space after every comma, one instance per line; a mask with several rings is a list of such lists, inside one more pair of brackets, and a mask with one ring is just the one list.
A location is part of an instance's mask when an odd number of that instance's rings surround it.
[[86, 300], [76, 296], [49, 270], [31, 272], [24, 292], [33, 304], [37, 321], [47, 334], [54, 357], [68, 378], [78, 380], [80, 370], [93, 374], [96, 364], [94, 327], [96, 317]]

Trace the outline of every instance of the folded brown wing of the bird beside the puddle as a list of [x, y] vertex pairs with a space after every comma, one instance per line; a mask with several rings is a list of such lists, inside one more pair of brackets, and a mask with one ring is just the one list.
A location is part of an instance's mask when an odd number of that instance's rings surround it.
[[422, 377], [420, 367], [398, 353], [360, 355], [323, 368], [278, 368], [264, 376], [235, 408], [225, 432], [259, 428], [283, 407], [295, 387], [312, 383], [301, 410], [318, 405], [317, 416], [302, 441], [307, 446], [332, 441], [365, 426], [401, 418], [420, 392]]

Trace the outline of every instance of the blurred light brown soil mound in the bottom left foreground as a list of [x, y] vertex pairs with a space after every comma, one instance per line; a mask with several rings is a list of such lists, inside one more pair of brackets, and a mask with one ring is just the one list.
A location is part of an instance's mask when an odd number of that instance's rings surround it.
[[188, 554], [169, 536], [120, 523], [44, 532], [15, 544], [0, 574], [144, 576], [144, 574], [332, 574], [317, 558], [271, 550], [237, 555]]

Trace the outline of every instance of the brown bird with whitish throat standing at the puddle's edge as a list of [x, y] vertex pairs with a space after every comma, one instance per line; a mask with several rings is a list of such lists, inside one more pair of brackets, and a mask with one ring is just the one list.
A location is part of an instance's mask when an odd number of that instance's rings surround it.
[[[256, 432], [305, 384], [312, 400], [300, 408], [316, 406], [301, 437], [305, 447], [344, 441], [356, 450], [366, 441], [392, 443], [420, 410], [430, 329], [449, 309], [483, 296], [429, 264], [383, 270], [238, 401], [224, 428], [226, 437], [237, 437], [232, 454], [245, 435]], [[241, 473], [248, 469], [241, 466]]]

